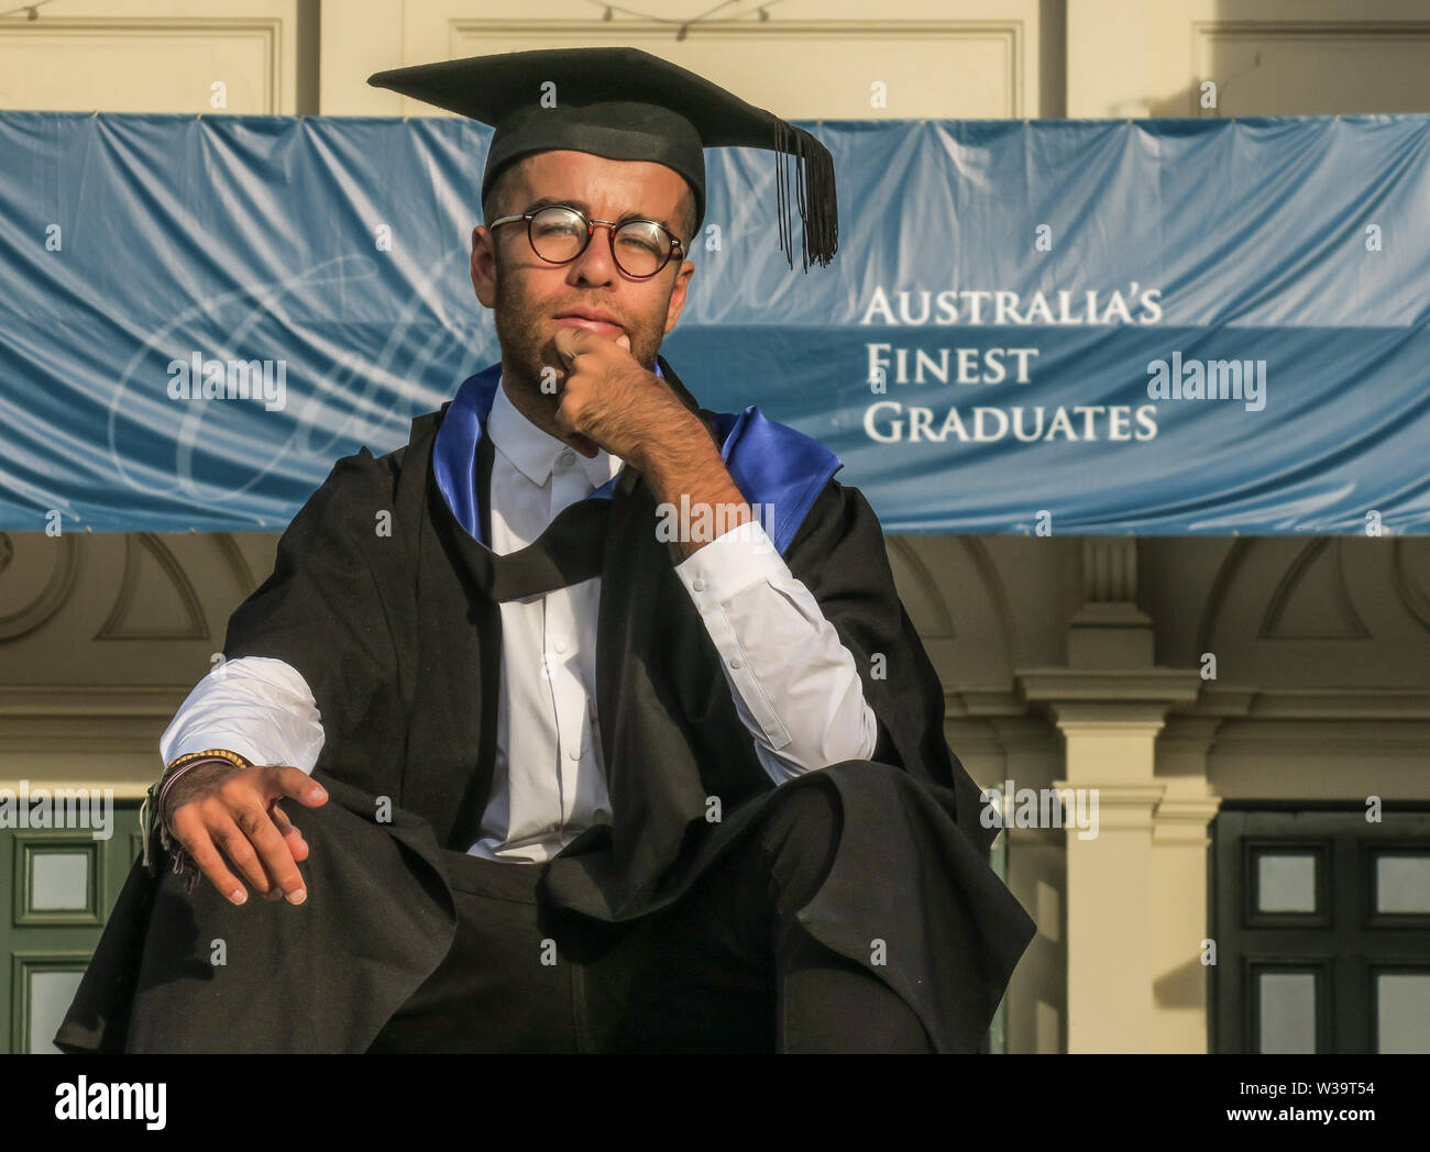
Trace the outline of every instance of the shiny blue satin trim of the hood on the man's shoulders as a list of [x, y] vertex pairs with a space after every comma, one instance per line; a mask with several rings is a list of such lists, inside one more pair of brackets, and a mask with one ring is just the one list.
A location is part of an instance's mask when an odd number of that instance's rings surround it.
[[[665, 376], [659, 363], [655, 373]], [[475, 376], [468, 376], [448, 404], [432, 445], [432, 470], [438, 489], [456, 522], [482, 545], [486, 540], [482, 539], [482, 513], [476, 499], [476, 445], [500, 380], [499, 360]], [[745, 500], [764, 506], [756, 509], [764, 513], [761, 525], [775, 549], [784, 555], [815, 499], [844, 463], [818, 440], [766, 419], [754, 406], [739, 414], [718, 413], [715, 435], [721, 440], [721, 459], [735, 486]], [[586, 499], [609, 500], [619, 479], [618, 473]]]

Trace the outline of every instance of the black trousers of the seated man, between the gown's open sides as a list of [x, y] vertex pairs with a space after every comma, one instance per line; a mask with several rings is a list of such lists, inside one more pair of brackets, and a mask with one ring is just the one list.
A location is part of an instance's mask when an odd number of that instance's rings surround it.
[[679, 900], [616, 925], [552, 915], [543, 865], [445, 852], [456, 938], [369, 1051], [931, 1052], [894, 990], [795, 919], [839, 823], [829, 789], [778, 789]]

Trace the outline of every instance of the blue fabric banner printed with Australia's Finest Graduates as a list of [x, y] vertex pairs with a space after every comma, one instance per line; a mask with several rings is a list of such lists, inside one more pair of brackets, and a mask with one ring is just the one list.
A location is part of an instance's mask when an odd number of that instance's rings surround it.
[[[1430, 117], [805, 123], [706, 152], [662, 353], [888, 532], [1430, 530]], [[0, 529], [279, 529], [500, 359], [462, 119], [0, 113]], [[795, 214], [798, 233], [798, 213]]]

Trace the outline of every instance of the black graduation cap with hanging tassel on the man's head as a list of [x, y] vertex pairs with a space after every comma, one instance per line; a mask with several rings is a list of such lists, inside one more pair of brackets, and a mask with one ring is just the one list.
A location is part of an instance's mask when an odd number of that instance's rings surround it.
[[[548, 81], [555, 104], [543, 101]], [[492, 124], [482, 177], [485, 199], [498, 174], [535, 152], [571, 149], [608, 160], [651, 160], [674, 169], [695, 194], [695, 230], [705, 220], [705, 153], [754, 147], [778, 153], [779, 249], [789, 242], [789, 160], [804, 223], [804, 270], [828, 266], [839, 244], [834, 157], [804, 129], [746, 104], [694, 71], [641, 49], [543, 49], [473, 56], [368, 77], [380, 89]]]

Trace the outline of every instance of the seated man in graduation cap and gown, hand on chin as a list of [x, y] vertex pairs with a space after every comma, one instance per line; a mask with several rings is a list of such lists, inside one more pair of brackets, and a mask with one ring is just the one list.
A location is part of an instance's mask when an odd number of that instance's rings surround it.
[[878, 522], [658, 354], [702, 147], [798, 160], [807, 266], [828, 152], [633, 49], [372, 83], [496, 126], [472, 283], [502, 360], [289, 526], [164, 733], [149, 868], [56, 1042], [977, 1051], [1034, 926]]

